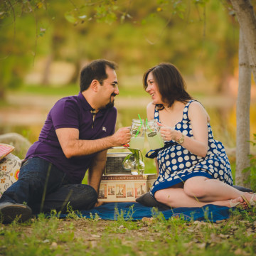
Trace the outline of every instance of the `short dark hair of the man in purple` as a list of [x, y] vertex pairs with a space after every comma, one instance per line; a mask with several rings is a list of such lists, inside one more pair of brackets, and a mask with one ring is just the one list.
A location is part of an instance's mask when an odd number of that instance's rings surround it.
[[117, 68], [116, 63], [104, 59], [92, 60], [92, 62], [85, 65], [80, 73], [80, 92], [87, 90], [94, 79], [102, 85], [103, 80], [107, 79], [107, 66], [113, 70]]

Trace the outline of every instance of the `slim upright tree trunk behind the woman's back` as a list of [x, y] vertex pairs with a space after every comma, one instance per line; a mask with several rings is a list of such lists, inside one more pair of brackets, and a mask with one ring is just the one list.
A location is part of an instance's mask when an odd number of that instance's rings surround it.
[[237, 134], [236, 134], [236, 168], [235, 183], [238, 186], [250, 187], [250, 171], [242, 171], [250, 166], [250, 89], [251, 69], [245, 46], [242, 29], [239, 36], [239, 86], [237, 99]]

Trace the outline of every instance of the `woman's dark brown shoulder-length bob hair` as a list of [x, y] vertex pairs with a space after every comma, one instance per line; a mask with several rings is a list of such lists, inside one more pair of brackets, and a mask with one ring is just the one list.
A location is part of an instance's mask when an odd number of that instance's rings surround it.
[[[143, 85], [145, 90], [148, 86], [147, 77], [149, 73], [152, 73], [154, 81], [159, 88], [162, 101], [165, 102], [168, 107], [171, 107], [175, 100], [183, 103], [188, 102], [188, 100], [192, 100], [191, 95], [186, 92], [186, 83], [175, 65], [171, 63], [160, 63], [153, 68], [149, 68], [143, 76]], [[163, 109], [164, 106], [160, 104], [159, 110]]]

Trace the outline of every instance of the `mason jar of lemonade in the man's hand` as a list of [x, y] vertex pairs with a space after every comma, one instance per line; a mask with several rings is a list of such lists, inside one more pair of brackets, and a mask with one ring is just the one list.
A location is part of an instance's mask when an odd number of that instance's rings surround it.
[[132, 119], [130, 149], [143, 149], [145, 141], [144, 119]]

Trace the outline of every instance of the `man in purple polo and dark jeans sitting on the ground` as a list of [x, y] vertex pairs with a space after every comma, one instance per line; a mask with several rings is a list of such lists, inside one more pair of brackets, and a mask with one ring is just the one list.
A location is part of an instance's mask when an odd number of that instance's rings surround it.
[[[4, 223], [52, 209], [97, 206], [107, 149], [127, 144], [128, 127], [114, 133], [119, 95], [116, 65], [94, 60], [80, 73], [80, 93], [64, 97], [48, 113], [38, 142], [26, 154], [18, 181], [0, 198]], [[88, 185], [81, 184], [88, 172]]]

